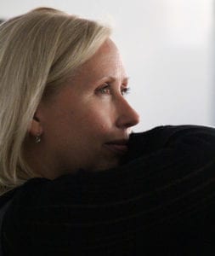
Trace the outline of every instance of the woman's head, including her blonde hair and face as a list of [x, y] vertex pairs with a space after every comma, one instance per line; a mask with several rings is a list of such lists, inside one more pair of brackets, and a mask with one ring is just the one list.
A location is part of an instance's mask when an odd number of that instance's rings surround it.
[[2, 34], [3, 185], [116, 166], [139, 117], [123, 97], [127, 76], [110, 29], [37, 9], [4, 23]]

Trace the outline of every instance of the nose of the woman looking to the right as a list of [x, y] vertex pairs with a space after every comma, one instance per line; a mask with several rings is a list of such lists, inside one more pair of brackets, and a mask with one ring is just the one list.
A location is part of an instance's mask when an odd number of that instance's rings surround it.
[[129, 128], [139, 123], [139, 113], [137, 113], [122, 97], [118, 102], [118, 118], [116, 119], [116, 126], [119, 128]]

